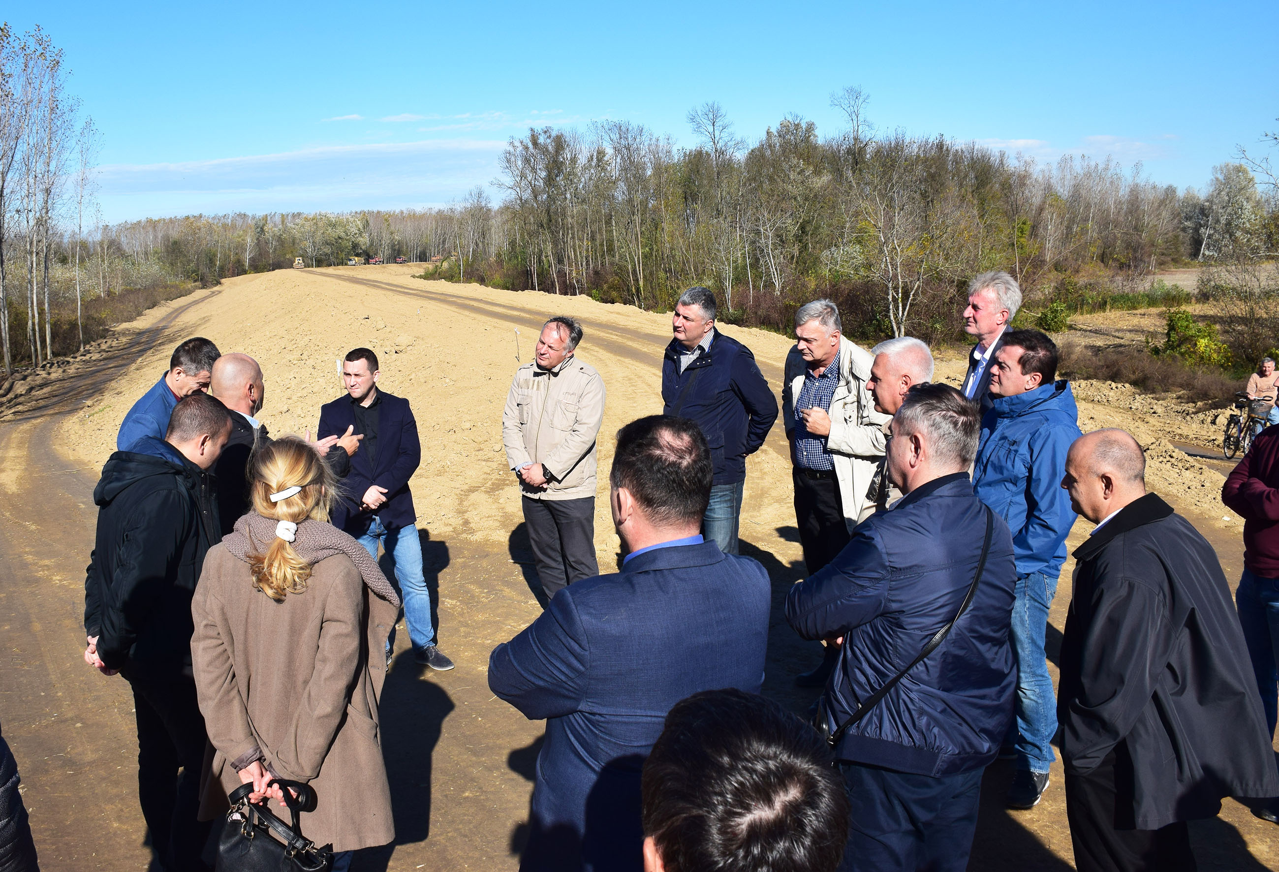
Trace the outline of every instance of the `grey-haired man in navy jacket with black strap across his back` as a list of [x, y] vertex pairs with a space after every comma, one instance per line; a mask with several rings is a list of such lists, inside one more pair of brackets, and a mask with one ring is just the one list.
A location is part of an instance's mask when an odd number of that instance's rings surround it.
[[840, 868], [968, 864], [1016, 688], [1013, 540], [968, 482], [978, 422], [954, 387], [912, 387], [888, 444], [906, 496], [787, 595], [799, 635], [843, 639], [817, 715], [852, 806]]

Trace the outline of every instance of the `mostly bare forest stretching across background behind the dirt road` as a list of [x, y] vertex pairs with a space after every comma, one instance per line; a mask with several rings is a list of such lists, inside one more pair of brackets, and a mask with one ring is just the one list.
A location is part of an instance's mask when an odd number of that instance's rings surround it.
[[297, 257], [307, 266], [403, 257], [426, 263], [426, 277], [646, 309], [666, 309], [700, 284], [715, 290], [723, 321], [780, 331], [798, 306], [831, 297], [849, 335], [944, 341], [967, 281], [984, 270], [1014, 274], [1032, 308], [1081, 311], [1145, 292], [1169, 265], [1279, 251], [1275, 175], [1242, 150], [1205, 191], [1178, 192], [1109, 157], [1040, 164], [876, 133], [858, 88], [831, 96], [845, 123], [830, 136], [788, 116], [747, 142], [714, 102], [689, 111], [691, 147], [629, 121], [530, 129], [501, 156], [496, 201], [477, 187], [445, 208], [107, 225], [95, 219], [97, 134], [64, 79], [41, 32], [19, 38], [0, 27], [8, 372], [72, 353], [192, 284]]

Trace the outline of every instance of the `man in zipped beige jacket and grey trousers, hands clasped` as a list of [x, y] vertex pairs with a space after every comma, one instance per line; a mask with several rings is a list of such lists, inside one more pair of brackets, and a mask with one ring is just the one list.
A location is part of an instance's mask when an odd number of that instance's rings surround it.
[[582, 325], [555, 316], [531, 363], [515, 370], [501, 413], [506, 463], [519, 481], [528, 541], [547, 597], [599, 575], [595, 560], [595, 439], [604, 380], [573, 355]]

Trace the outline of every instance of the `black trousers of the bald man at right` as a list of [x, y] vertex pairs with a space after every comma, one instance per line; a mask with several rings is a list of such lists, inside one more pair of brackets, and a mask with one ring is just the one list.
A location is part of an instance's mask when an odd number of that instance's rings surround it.
[[1193, 872], [1189, 826], [1137, 830], [1132, 762], [1120, 743], [1091, 772], [1065, 771], [1065, 816], [1079, 872]]

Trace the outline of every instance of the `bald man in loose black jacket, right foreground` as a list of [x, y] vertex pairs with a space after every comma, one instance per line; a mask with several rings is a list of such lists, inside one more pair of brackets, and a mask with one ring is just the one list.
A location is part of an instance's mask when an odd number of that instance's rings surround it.
[[1079, 872], [1193, 869], [1187, 821], [1279, 793], [1212, 546], [1155, 494], [1122, 430], [1077, 439], [1062, 487], [1096, 524], [1074, 550], [1058, 720]]

